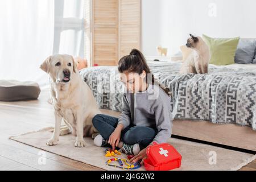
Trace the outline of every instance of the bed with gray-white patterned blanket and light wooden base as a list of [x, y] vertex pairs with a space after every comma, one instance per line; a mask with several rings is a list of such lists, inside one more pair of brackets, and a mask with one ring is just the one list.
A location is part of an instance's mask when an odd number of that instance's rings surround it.
[[[181, 64], [148, 61], [172, 92], [172, 133], [256, 151], [256, 64], [209, 65], [209, 74], [179, 75]], [[90, 67], [80, 74], [101, 109], [121, 112], [123, 85], [117, 67]]]

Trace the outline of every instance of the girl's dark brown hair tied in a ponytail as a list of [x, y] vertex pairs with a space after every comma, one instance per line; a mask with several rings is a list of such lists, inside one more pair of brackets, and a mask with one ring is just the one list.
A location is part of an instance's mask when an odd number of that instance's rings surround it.
[[164, 90], [164, 92], [170, 96], [170, 89], [167, 87], [162, 86], [157, 80], [155, 80], [154, 75], [150, 72], [150, 68], [148, 67], [146, 63], [146, 59], [143, 56], [142, 52], [139, 51], [138, 49], [132, 49], [130, 52], [130, 55], [123, 56], [119, 61], [118, 61], [118, 71], [120, 73], [123, 73], [125, 71], [127, 72], [135, 72], [141, 75], [143, 71], [146, 72], [146, 82], [148, 83], [147, 80], [147, 75], [151, 74], [152, 75], [152, 84], [158, 84], [160, 88]]

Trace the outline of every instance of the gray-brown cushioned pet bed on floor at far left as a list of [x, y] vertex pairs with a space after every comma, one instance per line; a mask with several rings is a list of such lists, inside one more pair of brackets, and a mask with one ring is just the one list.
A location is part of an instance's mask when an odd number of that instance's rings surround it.
[[0, 101], [34, 100], [40, 92], [36, 82], [0, 80]]

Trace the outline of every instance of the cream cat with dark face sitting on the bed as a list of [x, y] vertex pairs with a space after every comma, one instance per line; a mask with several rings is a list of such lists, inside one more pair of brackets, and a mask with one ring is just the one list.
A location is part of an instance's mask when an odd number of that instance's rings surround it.
[[200, 36], [189, 35], [190, 38], [187, 40], [186, 46], [191, 48], [192, 52], [187, 59], [184, 60], [180, 73], [208, 73], [210, 61], [209, 47]]

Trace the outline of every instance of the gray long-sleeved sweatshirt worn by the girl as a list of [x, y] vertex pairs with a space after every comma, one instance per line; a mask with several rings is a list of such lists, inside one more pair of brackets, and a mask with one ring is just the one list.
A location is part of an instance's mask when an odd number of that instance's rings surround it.
[[144, 92], [123, 93], [118, 124], [152, 127], [158, 131], [152, 142], [164, 143], [171, 137], [171, 98], [158, 85], [149, 84]]

